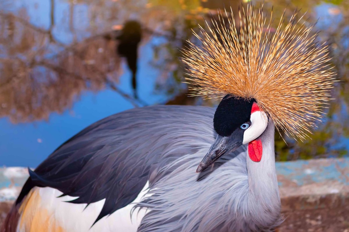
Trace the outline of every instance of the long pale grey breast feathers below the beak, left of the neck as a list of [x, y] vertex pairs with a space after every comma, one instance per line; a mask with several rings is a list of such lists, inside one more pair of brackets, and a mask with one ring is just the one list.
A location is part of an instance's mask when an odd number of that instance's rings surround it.
[[203, 173], [196, 168], [209, 146], [166, 164], [137, 207], [149, 209], [138, 232], [248, 231], [246, 146], [224, 155]]

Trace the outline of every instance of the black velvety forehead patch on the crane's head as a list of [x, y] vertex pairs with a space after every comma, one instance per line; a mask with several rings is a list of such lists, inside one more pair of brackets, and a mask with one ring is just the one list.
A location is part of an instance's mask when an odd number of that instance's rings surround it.
[[255, 102], [254, 99], [248, 101], [229, 94], [223, 97], [213, 118], [213, 127], [217, 134], [230, 136], [240, 125], [248, 122], [253, 102]]

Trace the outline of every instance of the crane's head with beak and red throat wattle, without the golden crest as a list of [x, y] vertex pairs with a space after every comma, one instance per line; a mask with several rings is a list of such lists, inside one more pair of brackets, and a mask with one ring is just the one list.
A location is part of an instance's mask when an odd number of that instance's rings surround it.
[[[211, 145], [196, 172], [201, 172], [224, 154], [234, 151], [247, 143], [258, 144], [258, 137], [268, 125], [268, 116], [254, 99], [247, 100], [226, 95], [218, 105], [213, 126], [217, 132], [215, 142]], [[260, 145], [261, 146], [261, 145]], [[250, 159], [259, 162], [261, 149], [249, 152]]]

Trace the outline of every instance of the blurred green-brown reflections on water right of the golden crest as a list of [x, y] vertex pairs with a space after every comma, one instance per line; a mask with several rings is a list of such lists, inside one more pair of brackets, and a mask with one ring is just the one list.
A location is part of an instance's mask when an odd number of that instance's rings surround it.
[[[329, 2], [329, 1], [328, 1]], [[277, 9], [285, 8], [286, 2], [270, 1], [267, 6], [274, 5]], [[283, 132], [276, 133], [275, 147], [277, 160], [310, 159], [321, 157], [341, 157], [348, 155], [349, 117], [349, 3], [336, 1], [323, 3], [320, 1], [292, 1], [292, 7], [286, 14], [296, 10], [296, 6], [310, 9], [309, 14], [320, 17], [317, 26], [319, 43], [332, 44], [332, 66], [337, 72], [339, 81], [332, 89], [333, 100], [327, 106], [327, 115], [318, 128], [309, 134], [310, 138], [304, 142], [297, 142], [288, 138]], [[277, 17], [277, 16], [276, 16]], [[314, 22], [316, 18], [311, 18]], [[307, 125], [304, 125], [307, 126]], [[285, 142], [285, 141], [286, 142]]]

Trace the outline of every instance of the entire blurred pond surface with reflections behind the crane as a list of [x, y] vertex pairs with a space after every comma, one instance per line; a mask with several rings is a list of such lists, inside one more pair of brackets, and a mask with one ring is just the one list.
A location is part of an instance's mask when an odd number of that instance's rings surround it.
[[[215, 106], [188, 96], [179, 59], [191, 30], [240, 0], [0, 0], [0, 165], [36, 167], [111, 114], [153, 104]], [[259, 1], [253, 4], [259, 5]], [[349, 149], [349, 1], [265, 0], [275, 23], [294, 10], [318, 21], [339, 80], [305, 143], [276, 133], [277, 161], [343, 157]], [[299, 15], [300, 16], [300, 15]], [[275, 25], [274, 25], [275, 26]], [[314, 31], [315, 32], [315, 31]]]

